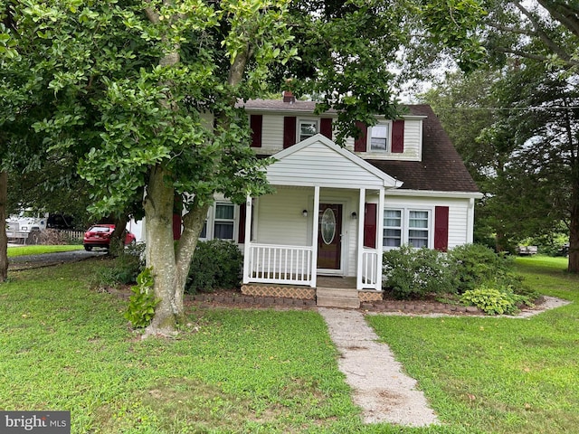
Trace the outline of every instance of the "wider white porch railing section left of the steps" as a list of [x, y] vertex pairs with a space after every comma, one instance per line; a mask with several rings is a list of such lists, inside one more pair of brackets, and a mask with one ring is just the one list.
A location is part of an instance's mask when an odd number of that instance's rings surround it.
[[311, 247], [252, 244], [249, 278], [256, 283], [310, 285], [311, 259]]

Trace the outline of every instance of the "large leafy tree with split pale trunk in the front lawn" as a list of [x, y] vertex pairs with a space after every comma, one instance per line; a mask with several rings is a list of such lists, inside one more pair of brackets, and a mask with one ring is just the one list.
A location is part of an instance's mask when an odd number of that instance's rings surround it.
[[[478, 5], [462, 3], [460, 14], [475, 23]], [[341, 110], [339, 137], [372, 114], [393, 118], [386, 65], [421, 14], [412, 2], [377, 0], [0, 5], [14, 24], [0, 35], [3, 66], [27, 71], [38, 98], [48, 99], [41, 118], [23, 110], [24, 124], [49, 152], [78, 156], [93, 212], [118, 212], [144, 191], [147, 266], [160, 299], [148, 334], [171, 334], [184, 317], [185, 278], [214, 193], [241, 202], [269, 189], [268, 161], [247, 146], [247, 116], [236, 103], [283, 86], [316, 94], [320, 109]], [[427, 26], [450, 34], [455, 47], [471, 46], [454, 19], [440, 19], [450, 24]], [[176, 201], [185, 213], [174, 246]]]

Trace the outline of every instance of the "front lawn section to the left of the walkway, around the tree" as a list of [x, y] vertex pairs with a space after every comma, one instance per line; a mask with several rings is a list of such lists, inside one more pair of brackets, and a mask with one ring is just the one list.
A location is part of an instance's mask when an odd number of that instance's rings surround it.
[[142, 341], [125, 301], [87, 289], [105, 262], [21, 271], [0, 286], [1, 410], [71, 410], [73, 433], [358, 424], [316, 312], [194, 310], [178, 338]]

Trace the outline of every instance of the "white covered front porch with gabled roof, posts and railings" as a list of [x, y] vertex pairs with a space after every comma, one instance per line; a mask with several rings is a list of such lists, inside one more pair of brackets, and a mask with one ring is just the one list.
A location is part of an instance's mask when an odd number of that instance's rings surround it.
[[246, 201], [243, 287], [323, 288], [320, 278], [339, 277], [380, 292], [384, 190], [402, 183], [320, 135], [274, 157], [277, 192]]

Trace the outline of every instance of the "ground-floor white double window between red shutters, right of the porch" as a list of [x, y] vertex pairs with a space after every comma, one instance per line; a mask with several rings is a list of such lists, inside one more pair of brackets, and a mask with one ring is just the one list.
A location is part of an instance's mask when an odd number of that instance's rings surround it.
[[395, 249], [403, 244], [415, 248], [432, 247], [431, 211], [413, 209], [384, 210], [384, 250]]

